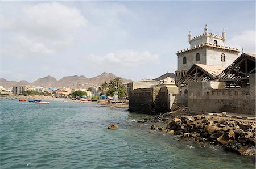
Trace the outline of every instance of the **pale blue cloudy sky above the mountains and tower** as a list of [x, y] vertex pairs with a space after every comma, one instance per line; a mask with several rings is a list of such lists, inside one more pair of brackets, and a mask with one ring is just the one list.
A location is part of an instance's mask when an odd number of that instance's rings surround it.
[[177, 69], [192, 37], [221, 35], [255, 54], [255, 1], [1, 1], [1, 78], [104, 71], [138, 81]]

